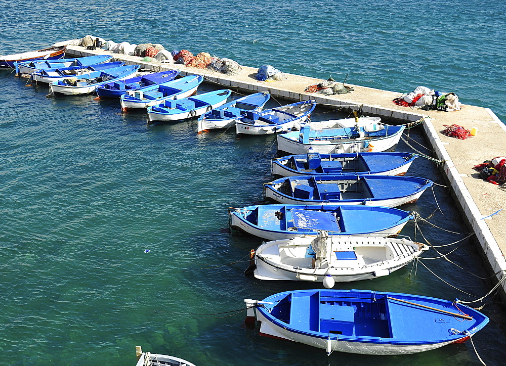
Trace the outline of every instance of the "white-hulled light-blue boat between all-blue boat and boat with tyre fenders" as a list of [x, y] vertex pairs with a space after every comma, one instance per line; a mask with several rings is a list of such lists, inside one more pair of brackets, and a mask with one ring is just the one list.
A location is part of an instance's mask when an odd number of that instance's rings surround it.
[[129, 90], [120, 97], [121, 110], [148, 108], [159, 105], [168, 99], [177, 100], [189, 97], [197, 91], [203, 80], [201, 75], [190, 75], [137, 90]]

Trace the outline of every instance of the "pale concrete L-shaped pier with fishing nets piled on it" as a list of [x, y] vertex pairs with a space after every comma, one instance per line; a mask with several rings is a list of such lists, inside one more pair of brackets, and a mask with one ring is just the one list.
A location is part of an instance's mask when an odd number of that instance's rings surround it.
[[[442, 172], [447, 177], [460, 206], [462, 217], [476, 234], [476, 240], [483, 249], [483, 257], [492, 272], [499, 272], [497, 280], [506, 273], [506, 190], [478, 178], [473, 170], [475, 164], [496, 156], [506, 156], [506, 125], [488, 108], [464, 105], [455, 112], [423, 111], [410, 107], [401, 107], [392, 100], [402, 93], [351, 85], [352, 93], [323, 96], [307, 94], [304, 89], [321, 82], [306, 76], [287, 74], [287, 80], [259, 82], [255, 78], [257, 68], [242, 66], [239, 75], [225, 75], [218, 72], [187, 67], [172, 63], [147, 63], [136, 56], [113, 54], [109, 51], [89, 51], [78, 46], [68, 46], [67, 57], [81, 57], [110, 54], [118, 61], [128, 64], [140, 64], [146, 70], [180, 70], [181, 75], [203, 75], [210, 83], [217, 83], [233, 90], [245, 93], [268, 91], [274, 99], [301, 101], [315, 99], [320, 106], [331, 109], [357, 110], [362, 108], [365, 115], [378, 116], [385, 121], [406, 123], [423, 120], [424, 130], [438, 159], [444, 160]], [[458, 140], [441, 133], [444, 125], [458, 124], [467, 129], [478, 128], [473, 138]], [[498, 210], [495, 215], [493, 213]], [[492, 215], [492, 216], [489, 216]], [[487, 217], [488, 216], [488, 217]], [[501, 285], [502, 296], [506, 298], [506, 284]]]

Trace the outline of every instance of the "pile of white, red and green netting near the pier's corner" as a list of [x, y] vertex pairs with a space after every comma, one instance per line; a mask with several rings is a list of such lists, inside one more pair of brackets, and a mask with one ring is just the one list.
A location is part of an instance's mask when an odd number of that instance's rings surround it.
[[426, 111], [453, 112], [462, 108], [455, 93], [442, 93], [439, 90], [429, 89], [427, 86], [418, 86], [411, 93], [403, 94], [393, 102], [398, 106], [420, 108]]

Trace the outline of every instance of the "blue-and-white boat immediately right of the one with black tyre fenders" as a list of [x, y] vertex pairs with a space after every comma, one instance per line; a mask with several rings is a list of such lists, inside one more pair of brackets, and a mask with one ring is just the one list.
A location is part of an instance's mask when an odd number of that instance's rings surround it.
[[248, 111], [261, 110], [270, 98], [265, 91], [235, 99], [219, 108], [206, 112], [198, 119], [197, 133], [214, 128], [229, 128]]

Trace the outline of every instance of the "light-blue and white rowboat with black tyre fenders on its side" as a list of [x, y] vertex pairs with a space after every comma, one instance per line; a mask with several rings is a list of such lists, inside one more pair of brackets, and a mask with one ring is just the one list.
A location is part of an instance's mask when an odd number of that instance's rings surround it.
[[165, 100], [162, 104], [148, 107], [148, 123], [179, 121], [199, 117], [213, 108], [220, 107], [232, 95], [232, 90], [214, 90], [183, 99]]

